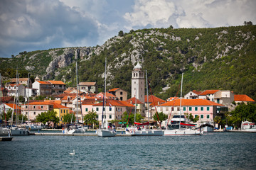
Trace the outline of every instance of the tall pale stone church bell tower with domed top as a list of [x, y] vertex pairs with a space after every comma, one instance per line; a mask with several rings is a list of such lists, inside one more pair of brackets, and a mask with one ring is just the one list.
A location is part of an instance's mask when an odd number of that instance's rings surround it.
[[136, 97], [139, 101], [144, 101], [145, 97], [145, 78], [142, 66], [137, 63], [132, 71], [132, 98]]

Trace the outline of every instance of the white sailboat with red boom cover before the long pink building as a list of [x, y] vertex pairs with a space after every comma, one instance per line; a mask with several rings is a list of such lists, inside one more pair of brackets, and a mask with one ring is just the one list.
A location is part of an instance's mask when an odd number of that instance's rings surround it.
[[[182, 84], [183, 84], [183, 73], [182, 73], [182, 77], [181, 77], [181, 98], [182, 98]], [[201, 131], [201, 130], [192, 130], [191, 128], [181, 128], [181, 125], [183, 125], [185, 127], [193, 126], [190, 124], [181, 123], [181, 105], [182, 105], [182, 103], [180, 102], [178, 129], [168, 130], [168, 126], [167, 126], [168, 123], [167, 123], [166, 130], [164, 130], [164, 136], [203, 135], [203, 131]]]

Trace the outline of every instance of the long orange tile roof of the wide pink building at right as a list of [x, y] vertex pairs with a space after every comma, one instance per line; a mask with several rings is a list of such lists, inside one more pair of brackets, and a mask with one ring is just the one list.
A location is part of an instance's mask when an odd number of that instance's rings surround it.
[[158, 106], [223, 106], [221, 104], [209, 101], [206, 99], [176, 99], [174, 101], [169, 101], [167, 103]]

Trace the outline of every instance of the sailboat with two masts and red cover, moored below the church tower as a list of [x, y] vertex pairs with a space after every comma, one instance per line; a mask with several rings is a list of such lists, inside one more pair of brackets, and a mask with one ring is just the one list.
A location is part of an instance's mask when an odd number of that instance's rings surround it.
[[[136, 88], [137, 90], [137, 88]], [[137, 94], [137, 93], [135, 93]], [[147, 84], [147, 74], [146, 74], [146, 96], [147, 96], [147, 103], [148, 103], [148, 118], [149, 118], [149, 93], [148, 93], [148, 84]], [[137, 123], [136, 120], [136, 103], [137, 98], [135, 96], [135, 113], [134, 113], [134, 128], [127, 128], [125, 133], [127, 135], [132, 135], [132, 136], [162, 136], [164, 135], [163, 130], [152, 130], [149, 128], [144, 128], [149, 125], [149, 121], [146, 123]], [[135, 126], [137, 125], [137, 127]]]

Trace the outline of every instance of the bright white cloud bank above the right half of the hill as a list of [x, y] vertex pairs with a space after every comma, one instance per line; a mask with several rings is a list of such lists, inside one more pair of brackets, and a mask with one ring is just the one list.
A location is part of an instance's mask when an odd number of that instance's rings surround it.
[[256, 22], [253, 0], [139, 0], [124, 18], [132, 27], [209, 28]]

